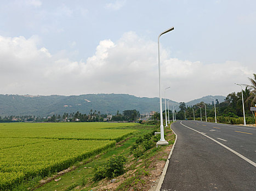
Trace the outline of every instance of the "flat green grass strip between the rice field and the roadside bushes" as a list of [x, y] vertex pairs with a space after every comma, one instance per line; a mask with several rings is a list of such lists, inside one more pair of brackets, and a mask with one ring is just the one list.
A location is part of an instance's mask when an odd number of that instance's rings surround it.
[[[131, 127], [126, 128], [131, 129]], [[129, 156], [129, 147], [134, 144], [138, 136], [152, 132], [154, 128], [155, 126], [145, 126], [141, 124], [132, 127], [132, 129], [136, 129], [137, 131], [130, 135], [126, 140], [118, 142], [115, 147], [109, 148], [97, 156], [88, 158], [75, 164], [75, 166], [78, 167], [75, 170], [62, 175], [60, 181], [48, 182], [36, 190], [91, 190], [99, 184], [99, 182], [92, 181], [94, 168], [102, 166], [112, 156]], [[76, 187], [70, 189], [72, 185], [76, 185]]]

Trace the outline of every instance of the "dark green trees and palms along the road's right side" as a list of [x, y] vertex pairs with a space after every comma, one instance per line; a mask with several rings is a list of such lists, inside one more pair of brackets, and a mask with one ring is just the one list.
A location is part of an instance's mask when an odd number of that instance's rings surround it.
[[[244, 84], [243, 86], [243, 101], [246, 123], [255, 123], [254, 113], [250, 110], [256, 104], [256, 74], [253, 78], [248, 78], [251, 85]], [[177, 112], [177, 119], [184, 120], [185, 114], [187, 120], [194, 120], [193, 109], [195, 111], [196, 120], [201, 120], [200, 107], [202, 112], [202, 120], [206, 120], [205, 106], [206, 103], [198, 103], [193, 106], [186, 106], [184, 102], [179, 105], [180, 111]], [[229, 93], [224, 102], [216, 102], [217, 122], [229, 124], [243, 124], [243, 106], [242, 106], [242, 91]], [[206, 104], [207, 121], [215, 122], [214, 103]]]

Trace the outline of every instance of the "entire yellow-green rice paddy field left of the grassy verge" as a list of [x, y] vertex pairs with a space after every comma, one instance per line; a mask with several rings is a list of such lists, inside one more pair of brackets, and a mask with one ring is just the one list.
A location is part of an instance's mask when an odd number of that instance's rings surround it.
[[0, 123], [0, 190], [47, 176], [135, 132], [134, 123]]

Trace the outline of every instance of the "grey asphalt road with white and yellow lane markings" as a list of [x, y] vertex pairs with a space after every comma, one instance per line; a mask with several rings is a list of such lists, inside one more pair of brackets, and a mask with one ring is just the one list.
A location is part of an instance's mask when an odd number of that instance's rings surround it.
[[256, 190], [255, 127], [178, 121], [172, 129], [178, 139], [161, 191]]

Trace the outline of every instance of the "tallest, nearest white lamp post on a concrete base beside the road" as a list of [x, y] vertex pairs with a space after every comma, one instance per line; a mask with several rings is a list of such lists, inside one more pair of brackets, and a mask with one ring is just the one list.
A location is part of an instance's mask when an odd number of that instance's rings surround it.
[[160, 132], [161, 132], [161, 138], [156, 143], [157, 145], [168, 145], [168, 142], [164, 139], [164, 132], [163, 132], [163, 108], [162, 108], [162, 95], [161, 95], [161, 67], [160, 67], [160, 47], [159, 47], [159, 39], [161, 35], [168, 33], [172, 31], [174, 27], [171, 27], [167, 29], [166, 31], [160, 33], [158, 35], [157, 39], [157, 45], [158, 45], [158, 74], [159, 74], [159, 99], [160, 99]]

